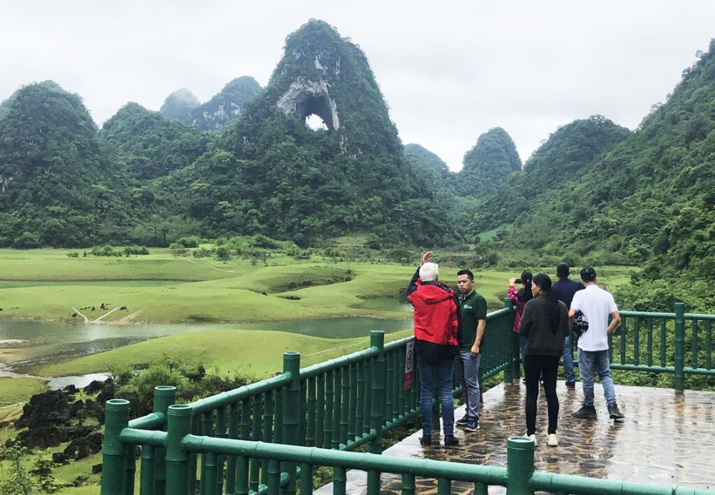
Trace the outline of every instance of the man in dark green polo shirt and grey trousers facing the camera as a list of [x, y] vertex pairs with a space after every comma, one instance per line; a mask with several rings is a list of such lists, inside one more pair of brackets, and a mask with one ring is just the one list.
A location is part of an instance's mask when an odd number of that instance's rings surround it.
[[487, 301], [474, 290], [474, 274], [470, 270], [457, 272], [462, 344], [455, 357], [455, 373], [462, 384], [467, 413], [457, 421], [465, 431], [479, 429], [479, 360], [480, 345], [487, 322]]

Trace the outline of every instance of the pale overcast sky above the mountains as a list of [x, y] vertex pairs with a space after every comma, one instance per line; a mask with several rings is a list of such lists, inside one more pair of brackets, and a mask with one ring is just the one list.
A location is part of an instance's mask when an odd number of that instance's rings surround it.
[[[102, 124], [179, 88], [265, 86], [310, 18], [368, 56], [404, 144], [452, 170], [501, 126], [522, 160], [592, 114], [635, 129], [715, 37], [715, 1], [0, 0], [0, 100], [52, 79]], [[340, 113], [340, 109], [338, 109]]]

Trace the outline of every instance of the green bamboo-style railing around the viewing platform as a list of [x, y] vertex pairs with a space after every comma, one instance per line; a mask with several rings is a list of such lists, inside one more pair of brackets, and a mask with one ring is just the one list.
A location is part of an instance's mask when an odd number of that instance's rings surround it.
[[[673, 372], [676, 388], [679, 369], [682, 373], [710, 371], [712, 316], [685, 314], [682, 306], [676, 306], [675, 314], [621, 315], [621, 333], [613, 340], [621, 349], [622, 362], [614, 368], [654, 371], [654, 356], [657, 352], [663, 356], [661, 349], [671, 338], [672, 320], [674, 364], [661, 359], [657, 366], [661, 369], [656, 371]], [[488, 379], [503, 371], [504, 380], [511, 382], [519, 373], [511, 300], [504, 309], [488, 314], [487, 320], [480, 376]], [[696, 336], [690, 341], [696, 342], [691, 344], [691, 362], [697, 366], [690, 368], [682, 364], [685, 321], [692, 321], [690, 328]], [[654, 335], [658, 325], [664, 330]], [[699, 326], [704, 331], [699, 332]], [[640, 346], [643, 331], [646, 351]], [[655, 337], [666, 344], [655, 345]], [[142, 452], [140, 495], [296, 494], [299, 485], [301, 494], [310, 494], [315, 466], [333, 468], [335, 493], [345, 493], [346, 469], [367, 471], [368, 494], [379, 493], [382, 473], [401, 474], [406, 494], [415, 493], [415, 476], [438, 479], [440, 494], [450, 492], [451, 481], [474, 483], [476, 494], [487, 493], [492, 484], [506, 486], [510, 495], [531, 494], [535, 489], [563, 494], [715, 493], [536, 473], [533, 444], [529, 446], [531, 441], [521, 437], [508, 441], [506, 469], [380, 456], [384, 432], [419, 415], [416, 379], [411, 389], [403, 386], [412, 340], [385, 344], [384, 333], [373, 331], [369, 349], [304, 369], [300, 369], [300, 354], [285, 353], [279, 376], [192, 404], [174, 404], [176, 389], [160, 386], [154, 391], [154, 412], [132, 421], [128, 401], [107, 401], [101, 494], [134, 494], [136, 446]], [[701, 349], [706, 349], [704, 356], [699, 354]], [[647, 364], [641, 364], [641, 359]], [[701, 364], [706, 367], [698, 367]], [[368, 445], [368, 453], [348, 452], [363, 444]]]

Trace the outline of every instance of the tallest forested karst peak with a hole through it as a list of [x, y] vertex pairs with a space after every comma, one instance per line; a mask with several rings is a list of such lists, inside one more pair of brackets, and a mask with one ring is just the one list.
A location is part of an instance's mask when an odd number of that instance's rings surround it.
[[[305, 125], [320, 116], [327, 130]], [[368, 61], [322, 21], [286, 39], [265, 91], [236, 126], [160, 188], [202, 223], [293, 239], [373, 234], [373, 243], [449, 241], [444, 210], [412, 173]]]

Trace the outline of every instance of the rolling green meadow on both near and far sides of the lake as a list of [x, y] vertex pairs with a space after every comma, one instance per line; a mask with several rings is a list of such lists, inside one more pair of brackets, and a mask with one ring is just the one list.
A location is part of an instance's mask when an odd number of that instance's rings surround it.
[[[357, 342], [368, 335], [336, 341], [247, 330], [241, 328], [241, 323], [340, 316], [409, 318], [400, 311], [399, 304], [381, 301], [404, 297], [416, 265], [416, 261], [410, 266], [372, 259], [336, 262], [318, 255], [297, 261], [280, 251], [265, 257], [265, 262], [177, 257], [169, 249], [119, 258], [85, 257], [82, 253], [74, 258], [68, 256], [70, 252], [1, 249], [0, 319], [83, 324], [86, 316], [102, 324], [231, 322], [235, 327], [167, 336], [99, 354], [46, 362], [33, 370], [42, 376], [142, 366], [161, 354], [185, 356], [227, 372], [251, 369], [254, 376], [280, 369], [280, 356], [287, 350], [304, 354], [305, 364], [329, 359], [360, 348]], [[457, 270], [442, 266], [441, 279], [454, 284]], [[553, 268], [543, 271], [550, 273]], [[520, 273], [521, 269], [475, 271], [475, 286], [490, 308], [496, 309], [503, 306], [508, 279]], [[601, 284], [609, 289], [626, 284], [630, 273], [631, 269], [622, 267], [599, 269]], [[102, 304], [106, 309], [101, 308]], [[119, 310], [123, 307], [126, 309]], [[14, 356], [21, 356], [21, 351], [6, 345], [0, 349], [0, 360], [4, 355], [5, 361], [16, 361]]]

